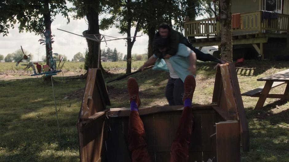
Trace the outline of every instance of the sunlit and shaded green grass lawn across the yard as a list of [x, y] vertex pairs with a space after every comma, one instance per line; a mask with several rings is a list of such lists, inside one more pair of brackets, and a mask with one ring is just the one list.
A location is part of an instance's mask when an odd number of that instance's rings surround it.
[[[6, 63], [5, 63], [6, 64]], [[12, 65], [12, 63], [10, 63]], [[143, 61], [133, 62], [134, 69]], [[8, 64], [7, 64], [8, 65]], [[11, 70], [0, 63], [0, 69]], [[14, 64], [13, 64], [14, 65]], [[80, 70], [83, 63], [65, 63], [65, 69]], [[125, 62], [102, 63], [107, 71], [118, 74], [105, 76], [109, 81], [120, 76]], [[214, 63], [198, 63], [197, 87], [193, 102], [209, 104], [215, 80]], [[246, 61], [238, 68], [241, 93], [264, 85], [257, 78], [288, 69], [287, 62]], [[244, 69], [251, 68], [251, 69]], [[4, 70], [5, 71], [5, 70]], [[146, 70], [134, 75], [140, 86], [142, 106], [166, 105], [164, 89], [168, 73]], [[0, 81], [0, 161], [79, 161], [76, 122], [81, 106], [85, 80], [65, 77], [63, 95], [62, 77], [55, 79], [57, 109], [61, 140], [58, 139], [52, 87], [41, 78]], [[107, 84], [112, 105], [109, 108], [128, 107], [127, 79]], [[272, 90], [282, 93], [286, 85]], [[242, 162], [289, 161], [289, 102], [267, 99], [264, 110], [254, 110], [258, 98], [243, 97], [250, 128], [250, 152], [241, 152]]]

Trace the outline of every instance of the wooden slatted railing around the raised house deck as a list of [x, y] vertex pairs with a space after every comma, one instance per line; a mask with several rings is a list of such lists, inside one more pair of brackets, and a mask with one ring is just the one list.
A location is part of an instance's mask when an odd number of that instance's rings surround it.
[[[208, 18], [184, 23], [185, 36], [187, 37], [214, 37], [220, 33], [220, 22], [216, 18]], [[277, 19], [262, 20], [262, 11], [247, 12], [240, 14], [239, 28], [233, 28], [232, 32], [240, 34], [253, 34], [265, 32], [288, 32], [289, 33], [289, 15], [278, 14]]]

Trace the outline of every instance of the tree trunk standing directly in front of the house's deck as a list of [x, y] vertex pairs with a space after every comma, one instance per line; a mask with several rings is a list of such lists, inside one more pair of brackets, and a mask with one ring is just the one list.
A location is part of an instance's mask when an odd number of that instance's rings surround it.
[[231, 0], [219, 0], [221, 24], [221, 59], [232, 62], [232, 13]]

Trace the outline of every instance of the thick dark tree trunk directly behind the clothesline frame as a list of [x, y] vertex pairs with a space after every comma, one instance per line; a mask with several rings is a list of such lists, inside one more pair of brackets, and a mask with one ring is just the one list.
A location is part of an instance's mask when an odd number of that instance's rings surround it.
[[[88, 21], [88, 30], [84, 31], [83, 34], [99, 34], [99, 24], [98, 24], [98, 12], [96, 12], [95, 8], [88, 6], [86, 11], [86, 18]], [[100, 38], [100, 37], [99, 37]], [[86, 39], [88, 46], [88, 56], [86, 58], [86, 69], [97, 68], [98, 66], [98, 52], [99, 52], [99, 42], [93, 41], [90, 39]], [[103, 73], [106, 73], [103, 69], [100, 61], [99, 68]]]

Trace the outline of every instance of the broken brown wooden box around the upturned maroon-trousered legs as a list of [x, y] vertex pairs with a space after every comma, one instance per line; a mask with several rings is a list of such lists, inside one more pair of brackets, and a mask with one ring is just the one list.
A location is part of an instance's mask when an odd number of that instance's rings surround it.
[[[106, 109], [106, 105], [110, 105], [110, 101], [101, 70], [90, 69], [77, 121], [82, 162], [131, 161], [130, 109]], [[169, 161], [182, 109], [182, 106], [139, 109], [152, 162]], [[196, 122], [189, 161], [238, 162], [240, 143], [243, 151], [249, 151], [248, 124], [233, 64], [217, 68], [212, 104], [193, 105], [192, 113]]]

